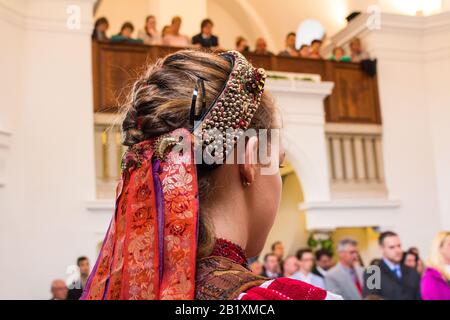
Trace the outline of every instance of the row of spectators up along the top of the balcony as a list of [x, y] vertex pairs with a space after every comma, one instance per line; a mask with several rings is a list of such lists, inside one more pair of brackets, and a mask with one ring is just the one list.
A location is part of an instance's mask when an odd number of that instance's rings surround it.
[[[211, 19], [204, 19], [200, 24], [200, 32], [191, 38], [180, 33], [181, 25], [182, 19], [176, 16], [172, 18], [171, 24], [164, 26], [160, 32], [157, 30], [156, 17], [150, 15], [145, 19], [144, 26], [138, 31], [136, 38], [133, 37], [135, 27], [131, 22], [123, 23], [120, 31], [109, 38], [107, 36], [109, 22], [107, 18], [102, 17], [95, 22], [92, 39], [95, 41], [141, 43], [181, 48], [220, 49], [219, 37], [213, 34], [214, 23]], [[283, 57], [323, 59], [320, 53], [322, 39], [313, 40], [310, 45], [304, 44], [299, 49], [296, 48], [296, 40], [297, 35], [295, 32], [288, 33], [285, 40], [285, 48], [278, 55]], [[258, 38], [255, 42], [254, 50], [251, 50], [248, 40], [239, 36], [236, 39], [234, 49], [241, 53], [252, 52], [260, 55], [273, 55], [268, 49], [264, 38]], [[369, 59], [369, 55], [362, 49], [360, 39], [355, 38], [350, 43], [349, 54], [346, 53], [343, 47], [335, 47], [329, 59], [333, 61], [361, 62]]]

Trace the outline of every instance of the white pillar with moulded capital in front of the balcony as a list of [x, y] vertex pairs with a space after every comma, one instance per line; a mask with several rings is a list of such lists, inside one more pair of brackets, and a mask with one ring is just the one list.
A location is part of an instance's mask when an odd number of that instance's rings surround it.
[[304, 201], [328, 201], [330, 185], [323, 100], [333, 83], [299, 82], [295, 87], [267, 88], [275, 97], [283, 117], [282, 137], [288, 160], [303, 188]]

